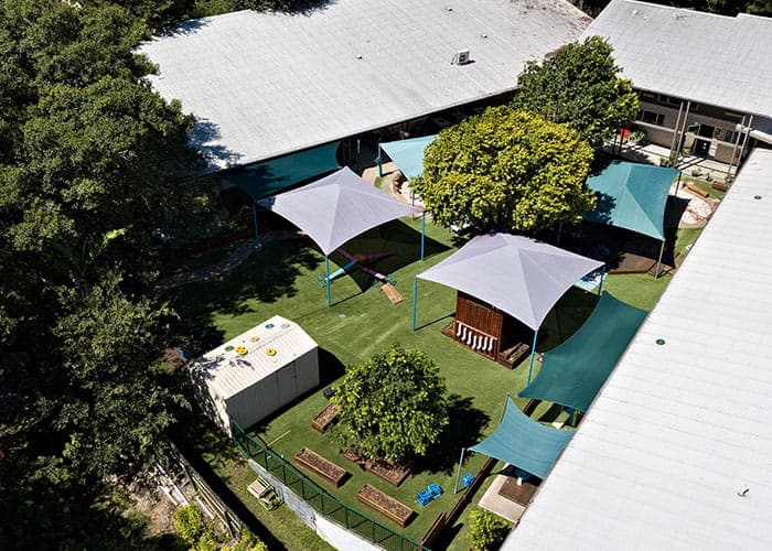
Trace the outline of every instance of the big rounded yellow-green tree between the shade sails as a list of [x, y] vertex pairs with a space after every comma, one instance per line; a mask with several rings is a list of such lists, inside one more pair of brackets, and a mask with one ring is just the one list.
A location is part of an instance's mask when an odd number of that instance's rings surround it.
[[591, 160], [575, 130], [496, 107], [442, 130], [411, 185], [442, 226], [538, 230], [593, 208], [583, 187]]

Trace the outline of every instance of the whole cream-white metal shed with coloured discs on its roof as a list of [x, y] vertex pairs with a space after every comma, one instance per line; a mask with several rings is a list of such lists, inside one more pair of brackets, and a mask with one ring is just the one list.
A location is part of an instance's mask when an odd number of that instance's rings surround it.
[[204, 412], [232, 436], [319, 385], [319, 347], [302, 327], [275, 315], [190, 364]]

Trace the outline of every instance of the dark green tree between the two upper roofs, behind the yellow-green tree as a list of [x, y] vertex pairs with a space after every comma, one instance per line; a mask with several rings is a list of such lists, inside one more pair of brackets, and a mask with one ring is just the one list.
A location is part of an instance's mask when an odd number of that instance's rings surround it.
[[516, 109], [577, 130], [593, 148], [630, 125], [639, 111], [632, 83], [619, 76], [612, 47], [599, 36], [573, 42], [519, 75]]

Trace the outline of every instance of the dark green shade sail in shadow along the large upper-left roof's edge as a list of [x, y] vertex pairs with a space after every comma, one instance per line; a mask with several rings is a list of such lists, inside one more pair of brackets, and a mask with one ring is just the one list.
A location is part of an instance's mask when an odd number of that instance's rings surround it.
[[339, 169], [335, 156], [339, 144], [336, 141], [249, 164], [224, 172], [221, 177], [226, 183], [240, 187], [257, 201]]

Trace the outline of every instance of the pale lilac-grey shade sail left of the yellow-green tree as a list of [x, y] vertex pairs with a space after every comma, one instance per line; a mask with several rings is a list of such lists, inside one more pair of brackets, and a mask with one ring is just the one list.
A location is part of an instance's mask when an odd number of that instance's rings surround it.
[[324, 255], [371, 228], [423, 212], [377, 190], [347, 166], [258, 204], [305, 231]]

